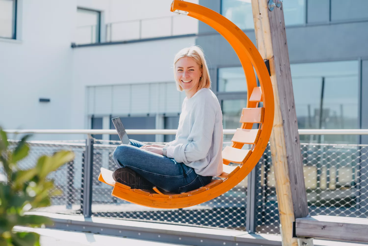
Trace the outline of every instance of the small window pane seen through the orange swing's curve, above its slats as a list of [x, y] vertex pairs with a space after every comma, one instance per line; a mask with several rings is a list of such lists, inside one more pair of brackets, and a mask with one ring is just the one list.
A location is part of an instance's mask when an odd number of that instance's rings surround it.
[[245, 80], [243, 67], [221, 67], [218, 74], [217, 91], [247, 91], [247, 81]]

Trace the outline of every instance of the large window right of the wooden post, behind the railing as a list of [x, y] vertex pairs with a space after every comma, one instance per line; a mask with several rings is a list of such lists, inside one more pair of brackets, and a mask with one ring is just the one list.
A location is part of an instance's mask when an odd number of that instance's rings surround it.
[[[358, 129], [358, 61], [291, 64], [299, 129]], [[301, 135], [301, 142], [357, 143], [355, 135]]]

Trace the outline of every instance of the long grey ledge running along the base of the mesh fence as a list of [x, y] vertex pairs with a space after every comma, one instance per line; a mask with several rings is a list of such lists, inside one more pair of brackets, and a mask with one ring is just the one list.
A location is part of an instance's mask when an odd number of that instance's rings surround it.
[[[139, 240], [181, 245], [281, 246], [281, 236], [254, 234], [229, 229], [205, 228], [191, 225], [163, 224], [82, 215], [29, 212], [47, 216], [54, 221], [49, 228], [91, 232]], [[361, 246], [360, 243], [313, 240], [314, 246]]]

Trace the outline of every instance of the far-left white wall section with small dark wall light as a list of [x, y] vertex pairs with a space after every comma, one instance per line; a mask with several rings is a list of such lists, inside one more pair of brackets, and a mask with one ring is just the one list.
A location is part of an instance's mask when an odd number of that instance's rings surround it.
[[[74, 1], [18, 3], [22, 38], [0, 41], [0, 125], [70, 128]], [[51, 101], [39, 103], [40, 97]]]

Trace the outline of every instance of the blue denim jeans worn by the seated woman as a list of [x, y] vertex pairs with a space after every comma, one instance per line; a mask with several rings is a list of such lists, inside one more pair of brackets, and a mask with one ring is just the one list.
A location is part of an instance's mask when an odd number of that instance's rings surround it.
[[130, 139], [131, 145], [121, 144], [113, 153], [118, 167], [128, 167], [157, 187], [174, 193], [198, 189], [211, 182], [212, 176], [201, 176], [182, 162], [139, 149], [145, 145]]

